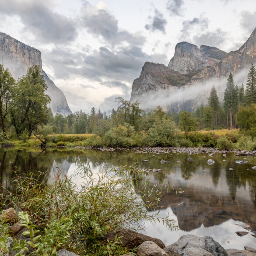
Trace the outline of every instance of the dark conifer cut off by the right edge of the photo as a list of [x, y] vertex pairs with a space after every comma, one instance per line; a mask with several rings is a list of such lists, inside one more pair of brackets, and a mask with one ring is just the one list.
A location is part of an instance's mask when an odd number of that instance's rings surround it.
[[256, 70], [253, 64], [249, 68], [249, 73], [247, 76], [245, 102], [246, 105], [256, 103]]

